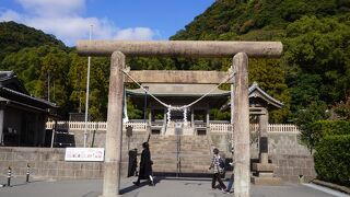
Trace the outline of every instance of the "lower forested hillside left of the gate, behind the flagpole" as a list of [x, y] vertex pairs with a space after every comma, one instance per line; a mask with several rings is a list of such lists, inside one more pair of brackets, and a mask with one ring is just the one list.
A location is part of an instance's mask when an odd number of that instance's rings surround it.
[[[52, 35], [14, 22], [0, 23], [0, 70], [15, 71], [31, 94], [57, 103], [63, 119], [70, 112], [84, 112], [86, 57]], [[106, 117], [108, 68], [108, 59], [92, 58], [89, 113], [94, 120]]]

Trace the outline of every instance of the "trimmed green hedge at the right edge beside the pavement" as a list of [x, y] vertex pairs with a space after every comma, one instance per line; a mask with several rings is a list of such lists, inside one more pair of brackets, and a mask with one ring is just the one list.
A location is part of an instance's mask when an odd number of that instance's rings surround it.
[[314, 160], [317, 178], [350, 186], [350, 135], [320, 139]]

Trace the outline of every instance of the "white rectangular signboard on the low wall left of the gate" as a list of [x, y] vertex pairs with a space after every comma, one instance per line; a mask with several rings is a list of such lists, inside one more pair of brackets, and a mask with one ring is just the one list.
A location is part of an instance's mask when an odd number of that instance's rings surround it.
[[66, 148], [65, 161], [104, 161], [104, 148]]

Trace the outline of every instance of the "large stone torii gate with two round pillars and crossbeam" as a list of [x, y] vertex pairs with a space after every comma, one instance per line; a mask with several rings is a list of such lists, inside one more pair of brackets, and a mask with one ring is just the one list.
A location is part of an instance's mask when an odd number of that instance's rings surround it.
[[[182, 57], [233, 57], [232, 83], [234, 100], [232, 115], [234, 123], [234, 150], [237, 163], [234, 169], [234, 196], [248, 197], [249, 176], [249, 106], [248, 106], [248, 57], [278, 58], [282, 54], [280, 42], [126, 42], [126, 40], [79, 40], [77, 49], [85, 56], [110, 56], [110, 76], [107, 112], [106, 153], [104, 163], [103, 197], [119, 196], [121, 132], [122, 132], [122, 90], [125, 59], [127, 56], [182, 56]], [[179, 72], [177, 72], [179, 73]], [[200, 72], [191, 78], [174, 74], [164, 79], [167, 83], [208, 83]], [[154, 77], [143, 76], [148, 81]], [[159, 78], [160, 79], [160, 78]], [[160, 82], [160, 80], [158, 82]], [[222, 79], [220, 79], [222, 80]]]

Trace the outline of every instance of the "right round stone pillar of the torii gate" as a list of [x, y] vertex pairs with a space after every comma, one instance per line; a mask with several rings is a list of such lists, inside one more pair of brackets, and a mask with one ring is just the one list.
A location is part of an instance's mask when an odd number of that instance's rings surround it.
[[233, 57], [234, 101], [234, 196], [249, 197], [250, 151], [249, 151], [249, 100], [248, 100], [248, 56], [238, 53]]

